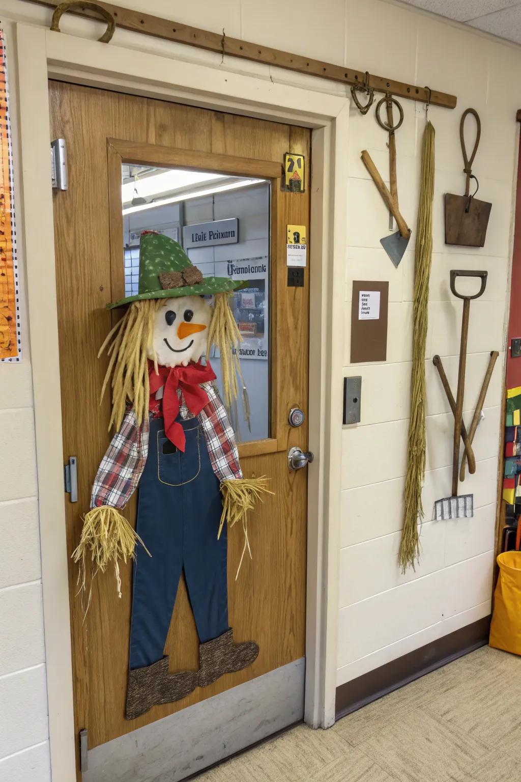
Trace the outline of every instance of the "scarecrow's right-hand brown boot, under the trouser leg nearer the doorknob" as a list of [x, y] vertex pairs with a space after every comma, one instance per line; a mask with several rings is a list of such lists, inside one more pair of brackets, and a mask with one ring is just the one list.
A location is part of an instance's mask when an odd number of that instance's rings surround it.
[[254, 640], [234, 644], [234, 631], [231, 628], [222, 636], [207, 640], [205, 644], [199, 645], [199, 687], [208, 687], [223, 673], [234, 673], [252, 665], [257, 655], [259, 646]]

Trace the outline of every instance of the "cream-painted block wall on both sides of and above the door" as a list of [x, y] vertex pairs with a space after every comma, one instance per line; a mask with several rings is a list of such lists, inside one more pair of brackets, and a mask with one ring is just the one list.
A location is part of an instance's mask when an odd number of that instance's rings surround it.
[[[122, 5], [150, 12], [145, 0]], [[451, 418], [430, 363], [432, 353], [445, 359], [455, 382], [461, 308], [448, 293], [451, 267], [487, 268], [487, 292], [473, 303], [469, 334], [466, 408], [477, 396], [487, 352], [503, 348], [506, 289], [509, 279], [509, 229], [512, 178], [515, 170], [516, 109], [521, 105], [519, 48], [492, 41], [475, 31], [405, 9], [384, 0], [327, 0], [317, 10], [314, 0], [194, 0], [173, 8], [156, 0], [153, 13], [215, 32], [259, 41], [332, 63], [433, 88], [458, 96], [458, 109], [431, 107], [437, 131], [434, 258], [430, 288], [430, 331], [427, 342], [428, 454], [425, 490], [427, 518], [435, 498], [450, 491]], [[12, 123], [16, 171], [16, 44], [9, 19], [48, 26], [51, 12], [20, 0], [0, 0], [12, 88]], [[298, 26], [294, 35], [287, 30]], [[62, 29], [94, 37], [99, 27], [73, 17]], [[126, 36], [126, 37], [125, 37]], [[212, 63], [216, 67], [251, 73], [275, 81], [342, 94], [343, 85], [268, 69], [237, 59], [213, 56], [194, 48], [116, 31], [112, 45], [133, 41], [136, 49], [170, 57]], [[504, 78], [503, 78], [504, 77]], [[419, 144], [423, 106], [403, 102], [405, 122], [398, 131], [398, 188], [409, 224], [416, 221]], [[476, 158], [480, 195], [493, 202], [484, 250], [448, 249], [443, 244], [441, 195], [460, 192], [462, 162], [458, 126], [462, 109], [480, 111], [483, 132]], [[362, 422], [344, 430], [342, 492], [340, 612], [338, 616], [338, 676], [341, 684], [377, 665], [419, 647], [429, 640], [486, 615], [490, 610], [496, 464], [501, 402], [501, 362], [487, 395], [486, 419], [476, 434], [476, 479], [466, 483], [475, 493], [476, 514], [470, 522], [426, 522], [422, 529], [423, 559], [405, 577], [398, 570], [401, 493], [405, 475], [405, 444], [409, 415], [410, 343], [412, 335], [412, 252], [397, 271], [380, 249], [387, 212], [380, 203], [359, 152], [369, 149], [380, 170], [386, 170], [384, 132], [373, 114], [351, 111], [346, 153], [351, 164], [349, 253], [346, 258], [345, 352], [346, 375], [362, 374]], [[30, 181], [30, 173], [27, 174]], [[20, 195], [20, 192], [19, 192]], [[20, 203], [20, 197], [18, 199]], [[17, 222], [22, 227], [20, 210]], [[23, 248], [20, 261], [23, 268]], [[387, 362], [349, 366], [349, 301], [356, 278], [390, 281]], [[0, 429], [16, 458], [5, 467], [0, 457], [0, 782], [49, 778], [45, 705], [45, 666], [42, 644], [40, 571], [36, 524], [36, 482], [31, 420], [31, 382], [27, 323], [23, 321], [24, 362], [0, 368]], [[450, 357], [450, 358], [449, 358]], [[340, 421], [339, 421], [340, 426]], [[23, 625], [23, 633], [20, 632]]]

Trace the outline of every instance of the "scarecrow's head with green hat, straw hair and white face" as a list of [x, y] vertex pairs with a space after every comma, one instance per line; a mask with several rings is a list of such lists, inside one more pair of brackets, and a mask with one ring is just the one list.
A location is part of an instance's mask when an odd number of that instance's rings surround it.
[[243, 282], [205, 277], [191, 264], [182, 247], [153, 231], [141, 234], [139, 288], [135, 296], [109, 304], [126, 307], [125, 314], [105, 339], [109, 366], [103, 383], [112, 387], [110, 424], [119, 429], [127, 404], [133, 404], [141, 423], [148, 411], [148, 361], [157, 371], [187, 366], [219, 349], [223, 375], [223, 401], [237, 397], [241, 377], [237, 345], [241, 335], [230, 310], [232, 292]]

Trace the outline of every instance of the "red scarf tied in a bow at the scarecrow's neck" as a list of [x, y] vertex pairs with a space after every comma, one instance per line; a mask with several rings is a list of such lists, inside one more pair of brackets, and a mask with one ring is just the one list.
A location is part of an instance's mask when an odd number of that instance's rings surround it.
[[162, 367], [158, 366], [159, 375], [155, 374], [154, 364], [148, 361], [148, 379], [150, 381], [150, 396], [162, 386], [165, 390], [162, 396], [162, 414], [165, 419], [165, 434], [179, 450], [184, 452], [186, 438], [184, 429], [176, 421], [179, 415], [179, 399], [177, 389], [181, 389], [188, 410], [198, 415], [202, 408], [208, 404], [208, 395], [201, 383], [207, 383], [216, 379], [210, 364], [188, 364], [187, 367]]

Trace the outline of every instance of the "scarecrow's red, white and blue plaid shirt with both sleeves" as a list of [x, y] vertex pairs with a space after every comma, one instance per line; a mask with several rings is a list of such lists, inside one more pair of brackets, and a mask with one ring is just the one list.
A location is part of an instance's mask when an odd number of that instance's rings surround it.
[[[202, 388], [208, 394], [208, 404], [198, 414], [198, 419], [205, 433], [213, 472], [219, 481], [242, 478], [237, 443], [227, 411], [211, 383], [204, 383]], [[181, 418], [193, 418], [180, 389], [177, 393]], [[138, 426], [136, 414], [130, 407], [99, 465], [92, 486], [91, 508], [101, 505], [124, 508], [141, 479], [147, 457], [148, 417]]]

